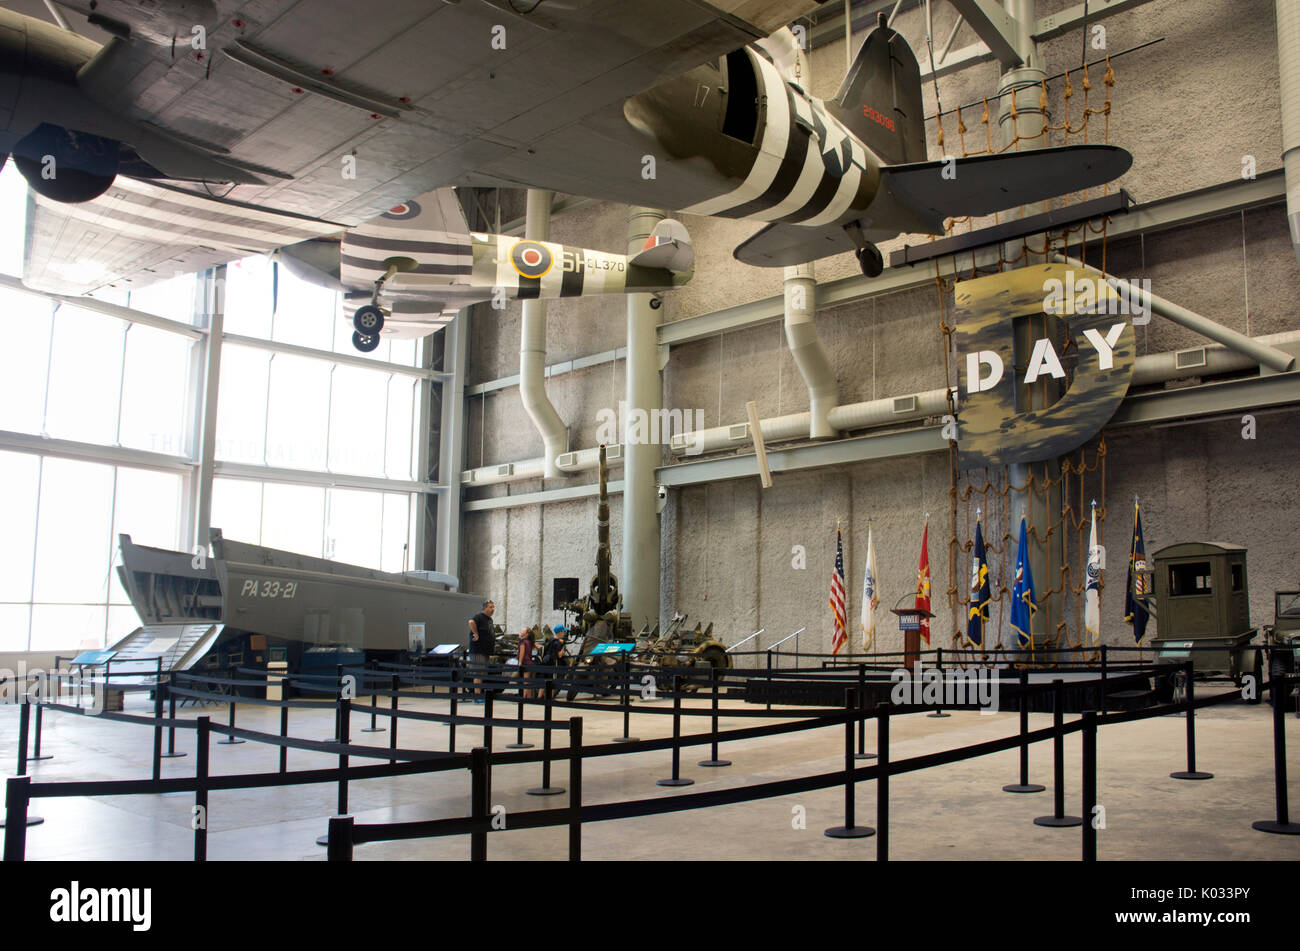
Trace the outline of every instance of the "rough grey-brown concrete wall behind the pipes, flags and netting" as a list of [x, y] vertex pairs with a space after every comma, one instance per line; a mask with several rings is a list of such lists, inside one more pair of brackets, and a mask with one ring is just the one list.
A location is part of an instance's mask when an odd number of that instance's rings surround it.
[[[1039, 16], [1070, 5], [1040, 0]], [[936, 43], [952, 26], [954, 12], [935, 5]], [[924, 58], [923, 26], [916, 8], [900, 14], [896, 27]], [[1164, 38], [1154, 47], [1114, 61], [1109, 140], [1134, 153], [1134, 168], [1121, 181], [1138, 200], [1176, 195], [1240, 177], [1243, 156], [1254, 156], [1258, 171], [1280, 165], [1280, 118], [1277, 92], [1277, 51], [1273, 4], [1216, 0], [1150, 0], [1127, 13], [1100, 21], [1112, 52]], [[857, 38], [861, 42], [861, 35]], [[963, 26], [953, 49], [974, 43]], [[1078, 30], [1040, 44], [1048, 75], [1075, 69], [1080, 56]], [[1089, 58], [1101, 53], [1088, 51]], [[812, 53], [812, 92], [833, 95], [844, 70], [842, 43]], [[997, 86], [992, 62], [971, 66], [939, 81], [944, 108], [989, 96]], [[1092, 70], [1091, 104], [1104, 101], [1102, 70]], [[1080, 77], [1072, 75], [1074, 123], [1080, 121]], [[1049, 87], [1052, 121], [1063, 118], [1063, 83]], [[927, 110], [933, 110], [933, 86], [926, 84]], [[963, 110], [967, 146], [983, 144], [982, 107]], [[996, 108], [992, 109], [996, 117]], [[1095, 116], [1089, 140], [1102, 139], [1104, 117]], [[954, 118], [945, 118], [945, 148], [958, 152]], [[997, 133], [993, 133], [994, 136]], [[937, 157], [937, 127], [928, 123], [930, 151]], [[996, 139], [994, 139], [996, 140]], [[1053, 139], [1053, 144], [1060, 142]], [[1082, 136], [1072, 136], [1079, 142]], [[670, 296], [663, 320], [680, 320], [781, 291], [781, 273], [749, 268], [732, 259], [732, 248], [759, 225], [710, 218], [686, 218], [696, 240], [696, 279]], [[975, 222], [976, 225], [982, 222]], [[961, 227], [965, 227], [961, 226]], [[556, 217], [552, 240], [621, 248], [625, 209], [597, 204]], [[888, 252], [900, 242], [885, 246]], [[914, 243], [918, 238], [911, 239]], [[1100, 262], [1100, 240], [1088, 259]], [[1199, 313], [1251, 335], [1294, 330], [1297, 286], [1282, 205], [1219, 218], [1195, 226], [1109, 242], [1108, 270], [1149, 278], [1152, 290]], [[852, 256], [819, 261], [820, 281], [857, 273]], [[950, 313], [952, 295], [942, 301]], [[625, 304], [621, 299], [571, 300], [550, 307], [547, 362], [624, 346]], [[818, 331], [838, 378], [841, 401], [894, 396], [942, 386], [940, 300], [933, 286], [859, 301], [818, 313]], [[1200, 343], [1200, 338], [1156, 317], [1139, 327], [1139, 352], [1161, 352]], [[572, 448], [595, 444], [597, 413], [616, 408], [624, 392], [621, 361], [556, 377], [547, 385], [551, 400], [569, 425]], [[476, 313], [471, 343], [471, 382], [511, 375], [519, 370], [519, 307]], [[729, 333], [673, 347], [663, 372], [664, 405], [702, 409], [705, 425], [744, 420], [746, 400], [762, 416], [807, 409], [807, 392], [785, 346], [779, 323]], [[1109, 590], [1102, 598], [1102, 634], [1108, 643], [1131, 643], [1121, 617], [1123, 568], [1131, 530], [1134, 494], [1143, 499], [1147, 550], [1193, 539], [1218, 539], [1248, 546], [1252, 620], [1271, 618], [1271, 592], [1300, 583], [1300, 413], [1260, 414], [1257, 438], [1243, 440], [1238, 420], [1196, 422], [1167, 429], [1119, 430], [1106, 434], [1105, 492], [1100, 473], [1084, 487], [1108, 516]], [[468, 465], [506, 463], [541, 455], [541, 439], [523, 413], [517, 391], [507, 388], [468, 400]], [[480, 434], [484, 434], [484, 438]], [[1096, 444], [1087, 451], [1089, 464]], [[1075, 455], [1078, 459], [1078, 453]], [[671, 463], [664, 456], [664, 463]], [[983, 485], [984, 473], [970, 473]], [[619, 478], [615, 470], [614, 478]], [[1001, 476], [993, 474], [996, 485]], [[520, 482], [472, 490], [471, 498], [526, 494], [541, 488], [582, 485], [593, 474]], [[965, 485], [965, 483], [962, 483]], [[1078, 492], [1078, 483], [1072, 483]], [[1000, 550], [1004, 530], [1000, 496], [988, 503], [989, 544]], [[970, 514], [979, 499], [972, 499]], [[1078, 508], [1078, 499], [1074, 504]], [[1086, 512], [1086, 509], [1082, 509]], [[621, 563], [621, 505], [612, 505], [614, 559]], [[768, 644], [797, 628], [805, 651], [827, 651], [831, 616], [827, 607], [833, 563], [835, 526], [842, 521], [848, 570], [850, 628], [857, 628], [868, 520], [875, 529], [883, 607], [893, 607], [915, 585], [920, 533], [931, 516], [930, 557], [933, 577], [935, 646], [950, 646], [956, 626], [948, 589], [965, 591], [968, 559], [950, 557], [949, 463], [946, 453], [862, 463], [811, 472], [777, 474], [770, 490], [755, 479], [696, 486], [672, 492], [660, 517], [662, 596], [664, 617], [673, 611], [693, 620], [714, 621], [716, 633], [733, 643], [766, 628]], [[1078, 512], [1076, 512], [1078, 514]], [[966, 505], [959, 505], [957, 544], [968, 542]], [[582, 590], [594, 570], [595, 501], [566, 501], [545, 507], [472, 512], [464, 520], [467, 590], [491, 594], [498, 618], [507, 629], [538, 620], [556, 622], [550, 609], [551, 578], [577, 576]], [[974, 525], [970, 525], [971, 530]], [[1086, 531], [1086, 529], [1084, 529]], [[1074, 583], [1082, 577], [1079, 535], [1067, 533]], [[499, 548], [495, 548], [500, 546]], [[806, 561], [798, 565], [797, 547]], [[493, 552], [497, 551], [494, 564]], [[1014, 565], [991, 555], [994, 581], [1010, 585]], [[1046, 587], [1046, 578], [1037, 578]], [[1054, 578], [1050, 583], [1060, 583]], [[910, 602], [910, 598], [907, 599]], [[1074, 598], [1066, 620], [1075, 626]], [[878, 648], [900, 650], [901, 634], [892, 615], [880, 625]], [[1044, 618], [1045, 620], [1045, 618]], [[1057, 618], [1060, 620], [1060, 618]], [[636, 618], [640, 625], [641, 618]], [[994, 628], [997, 611], [994, 608]], [[965, 626], [962, 624], [962, 626]], [[996, 637], [996, 635], [994, 635]], [[1074, 631], [1071, 637], [1078, 637]], [[1005, 629], [1004, 639], [1010, 635]], [[793, 642], [792, 644], [793, 646]]]

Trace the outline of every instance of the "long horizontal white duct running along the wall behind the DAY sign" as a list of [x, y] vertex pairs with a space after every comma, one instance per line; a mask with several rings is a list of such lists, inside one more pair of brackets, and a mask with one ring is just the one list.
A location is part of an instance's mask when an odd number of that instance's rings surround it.
[[[1282, 334], [1266, 334], [1253, 338], [1257, 343], [1270, 347], [1291, 347], [1300, 349], [1300, 330]], [[1149, 386], [1170, 379], [1190, 377], [1216, 377], [1236, 373], [1258, 364], [1245, 353], [1239, 353], [1222, 344], [1206, 344], [1165, 353], [1149, 353], [1134, 361], [1131, 386]], [[831, 424], [845, 433], [894, 422], [909, 422], [927, 417], [944, 416], [948, 412], [948, 396], [939, 390], [926, 390], [909, 396], [889, 396], [866, 403], [849, 403], [831, 411]], [[764, 442], [788, 442], [806, 439], [809, 433], [809, 413], [792, 413], [762, 420]], [[749, 446], [749, 424], [737, 422], [731, 426], [714, 426], [689, 435], [675, 435], [671, 450], [676, 456], [690, 456], [722, 450], [734, 450]], [[698, 448], [697, 448], [698, 447]], [[586, 472], [597, 468], [599, 450], [578, 450], [560, 456], [559, 468], [564, 473]], [[610, 466], [623, 465], [621, 447], [610, 447]], [[465, 485], [488, 486], [500, 482], [517, 482], [537, 478], [542, 472], [542, 460], [529, 459], [523, 463], [488, 465], [472, 469], [463, 477]]]

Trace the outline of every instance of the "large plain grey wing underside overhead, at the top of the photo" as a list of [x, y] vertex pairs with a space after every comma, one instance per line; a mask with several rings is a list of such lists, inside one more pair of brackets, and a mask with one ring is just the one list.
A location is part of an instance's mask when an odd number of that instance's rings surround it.
[[129, 36], [103, 47], [78, 84], [151, 136], [136, 146], [146, 161], [165, 171], [169, 143], [198, 149], [263, 179], [234, 199], [358, 225], [526, 156], [823, 1], [221, 3], [209, 5], [228, 16], [205, 25], [203, 49], [187, 25], [159, 43], [150, 4], [62, 5]]

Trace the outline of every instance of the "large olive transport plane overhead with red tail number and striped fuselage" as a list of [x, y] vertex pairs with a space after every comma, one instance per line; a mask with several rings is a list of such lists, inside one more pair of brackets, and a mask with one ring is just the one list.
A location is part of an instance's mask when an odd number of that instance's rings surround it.
[[[741, 261], [854, 251], [875, 274], [880, 240], [1131, 164], [1108, 146], [927, 161], [916, 58], [883, 21], [831, 100], [779, 68], [815, 0], [61, 5], [114, 39], [0, 12], [0, 151], [56, 200], [118, 174], [222, 182], [356, 226], [445, 186], [533, 186], [767, 222]], [[48, 155], [73, 174], [43, 179]]]

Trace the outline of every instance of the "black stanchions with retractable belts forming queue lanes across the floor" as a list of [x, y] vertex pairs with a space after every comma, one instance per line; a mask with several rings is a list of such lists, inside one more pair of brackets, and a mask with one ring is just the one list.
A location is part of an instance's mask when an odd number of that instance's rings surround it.
[[[1054, 808], [1052, 816], [1041, 816], [1035, 821], [1040, 825], [1049, 826], [1082, 824], [1082, 857], [1084, 860], [1095, 860], [1097, 829], [1091, 821], [1091, 817], [1093, 816], [1092, 808], [1096, 805], [1096, 730], [1098, 726], [1106, 724], [1131, 722], [1171, 713], [1183, 713], [1187, 724], [1187, 769], [1173, 773], [1171, 776], [1183, 780], [1210, 778], [1210, 774], [1200, 773], [1196, 769], [1195, 711], [1210, 704], [1236, 699], [1238, 695], [1235, 691], [1197, 698], [1195, 695], [1195, 681], [1192, 678], [1192, 661], [1187, 661], [1182, 665], [1156, 664], [1147, 665], [1140, 670], [1122, 673], [1115, 672], [1118, 676], [1109, 678], [1110, 687], [1149, 687], [1152, 677], [1167, 676], [1176, 669], [1180, 669], [1187, 678], [1187, 691], [1180, 702], [1157, 703], [1156, 705], [1141, 709], [1117, 712], [1087, 709], [1078, 720], [1069, 724], [1065, 721], [1067, 695], [1071, 691], [1087, 689], [1087, 685], [1070, 685], [1063, 678], [1054, 678], [1050, 683], [1032, 683], [1030, 682], [1028, 670], [1020, 670], [1014, 682], [1004, 681], [998, 686], [1002, 705], [1005, 707], [1008, 705], [1006, 702], [1014, 700], [1015, 705], [1019, 708], [1019, 730], [1015, 734], [970, 744], [957, 750], [945, 750], [902, 760], [893, 760], [890, 757], [890, 718], [900, 716], [901, 713], [926, 711], [940, 712], [939, 705], [926, 703], [897, 705], [889, 702], [868, 704], [870, 691], [868, 689], [863, 689], [861, 683], [861, 673], [857, 677], [846, 677], [840, 683], [842, 687], [842, 704], [840, 704], [838, 709], [828, 709], [826, 707], [810, 709], [784, 709], [776, 713], [776, 716], [783, 720], [781, 722], [768, 722], [758, 726], [720, 730], [720, 716], [725, 716], [727, 718], [772, 718], [774, 715], [763, 709], [754, 709], [751, 707], [722, 709], [720, 707], [720, 699], [729, 683], [753, 679], [753, 676], [749, 676], [748, 672], [736, 670], [710, 670], [707, 674], [689, 670], [671, 672], [668, 674], [668, 687], [671, 690], [672, 705], [638, 705], [636, 709], [638, 718], [644, 718], [645, 716], [671, 716], [671, 735], [655, 739], [636, 739], [628, 735], [627, 725], [628, 717], [632, 713], [632, 682], [633, 678], [641, 673], [641, 670], [636, 665], [624, 661], [623, 664], [611, 665], [608, 669], [597, 672], [599, 674], [598, 677], [593, 676], [590, 679], [577, 683], [577, 686], [582, 689], [610, 690], [615, 695], [621, 692], [615, 709], [621, 708], [624, 712], [624, 735], [618, 738], [615, 742], [597, 746], [584, 744], [581, 716], [572, 716], [567, 721], [559, 720], [555, 717], [555, 709], [610, 711], [611, 707], [608, 703], [597, 703], [594, 700], [558, 700], [555, 694], [556, 686], [563, 683], [560, 677], [566, 673], [572, 673], [571, 669], [564, 668], [537, 669], [537, 673], [541, 676], [536, 678], [536, 681], [532, 681], [532, 683], [543, 686], [543, 698], [538, 702], [543, 708], [543, 716], [540, 720], [525, 720], [523, 717], [523, 698], [519, 700], [519, 715], [515, 718], [503, 718], [494, 715], [493, 704], [495, 691], [507, 685], [520, 686], [521, 683], [529, 683], [515, 676], [514, 670], [510, 670], [508, 674], [500, 669], [480, 669], [469, 672], [471, 674], [478, 674], [481, 677], [482, 682], [480, 685], [474, 685], [472, 677], [462, 676], [458, 679], [455, 677], [455, 674], [460, 673], [458, 670], [432, 673], [417, 668], [395, 672], [351, 668], [342, 673], [337, 672], [338, 695], [333, 700], [270, 700], [255, 696], [237, 696], [233, 691], [238, 689], [256, 689], [259, 686], [265, 687], [265, 678], [213, 678], [178, 674], [176, 678], [177, 682], [170, 685], [159, 685], [153, 696], [152, 716], [105, 711], [99, 713], [96, 717], [99, 720], [142, 725], [152, 729], [152, 776], [148, 780], [35, 782], [29, 774], [27, 747], [31, 726], [31, 707], [38, 704], [26, 702], [20, 704], [20, 735], [17, 754], [18, 776], [10, 778], [6, 783], [4, 857], [5, 860], [22, 860], [25, 857], [27, 825], [29, 822], [35, 821], [30, 815], [30, 805], [34, 800], [43, 798], [192, 792], [195, 796], [195, 822], [192, 824], [195, 831], [194, 857], [196, 860], [204, 860], [207, 857], [207, 829], [209, 825], [209, 792], [216, 790], [335, 783], [338, 786], [338, 815], [329, 821], [328, 837], [321, 837], [321, 839], [318, 839], [322, 844], [328, 843], [329, 856], [332, 859], [350, 859], [356, 846], [369, 842], [436, 838], [446, 835], [469, 835], [469, 856], [472, 859], [485, 859], [489, 833], [499, 833], [504, 830], [502, 824], [493, 821], [494, 816], [489, 815], [488, 809], [490, 790], [494, 781], [493, 770], [520, 764], [540, 764], [542, 768], [542, 785], [529, 789], [526, 792], [530, 795], [543, 796], [559, 795], [566, 790], [551, 785], [551, 764], [555, 761], [564, 761], [568, 764], [569, 774], [568, 804], [552, 809], [512, 813], [510, 816], [508, 829], [517, 830], [547, 826], [568, 826], [568, 854], [571, 859], [581, 857], [581, 830], [582, 825], [588, 822], [662, 815], [667, 812], [697, 809], [710, 805], [754, 802], [810, 790], [842, 786], [845, 790], [845, 821], [842, 826], [828, 829], [827, 834], [831, 837], [850, 838], [876, 834], [876, 857], [884, 860], [888, 859], [888, 782], [890, 777], [1018, 748], [1020, 751], [1019, 782], [1008, 786], [1008, 791], [1028, 791], [1030, 789], [1041, 789], [1032, 787], [1028, 782], [1028, 748], [1034, 743], [1052, 741]], [[443, 673], [447, 676], [443, 677]], [[662, 669], [658, 673], [663, 673]], [[554, 676], [547, 679], [545, 674]], [[824, 679], [826, 672], [783, 672], [783, 677], [805, 674]], [[618, 678], [618, 685], [621, 685], [621, 691], [618, 690], [615, 678]], [[290, 679], [311, 681], [315, 682], [317, 687], [321, 686], [321, 678], [294, 677]], [[658, 683], [658, 681], [655, 682]], [[1284, 698], [1297, 682], [1300, 682], [1297, 678], [1280, 673], [1274, 673], [1269, 682], [1269, 689], [1274, 691], [1274, 768], [1279, 781], [1275, 785], [1277, 822], [1269, 820], [1262, 825], [1280, 825], [1284, 828], [1294, 825], [1290, 824], [1286, 802], [1286, 751], [1282, 716], [1286, 705]], [[378, 686], [380, 683], [386, 683], [387, 686]], [[403, 685], [413, 689], [403, 690]], [[868, 687], [870, 686], [871, 685], [868, 685]], [[429, 699], [430, 694], [424, 692], [422, 687], [432, 687], [434, 690], [441, 687], [447, 690], [451, 699], [448, 711], [442, 713], [428, 709], [402, 709], [399, 703], [403, 699]], [[707, 707], [686, 708], [682, 705], [682, 699], [688, 695], [688, 691], [692, 687], [694, 687], [697, 695], [701, 695], [701, 691], [706, 691], [706, 696], [708, 699]], [[217, 692], [217, 689], [231, 692]], [[370, 696], [370, 705], [365, 707], [355, 704], [354, 698], [347, 695], [352, 690], [368, 694]], [[460, 698], [473, 691], [482, 692], [482, 716], [463, 716], [458, 709]], [[1119, 692], [1123, 691], [1115, 690], [1112, 692], [1112, 696], [1115, 696]], [[387, 708], [378, 705], [381, 698], [389, 699]], [[176, 704], [178, 700], [185, 699], [226, 704], [229, 707], [229, 722], [226, 725], [213, 724], [207, 716], [200, 716], [196, 720], [177, 717]], [[277, 735], [238, 728], [235, 725], [234, 713], [238, 704], [260, 704], [278, 708], [280, 734]], [[42, 707], [49, 707], [52, 711], [57, 711], [60, 713], [88, 716], [86, 711], [78, 705], [43, 703], [38, 705], [38, 711]], [[289, 716], [291, 709], [312, 708], [320, 711], [322, 707], [326, 709], [333, 708], [335, 716], [335, 737], [333, 739], [313, 741], [290, 735]], [[978, 704], [970, 703], [949, 704], [950, 709], [970, 709], [976, 707]], [[1053, 713], [1053, 725], [1050, 728], [1031, 731], [1028, 729], [1028, 712], [1031, 707], [1049, 708]], [[168, 709], [166, 716], [164, 716], [164, 709]], [[358, 715], [369, 717], [372, 726], [368, 729], [372, 730], [381, 729], [374, 726], [378, 718], [382, 717], [387, 721], [387, 729], [390, 731], [387, 747], [364, 746], [352, 742], [351, 722], [352, 717]], [[685, 717], [690, 716], [710, 717], [710, 729], [707, 731], [684, 735], [681, 724]], [[420, 720], [446, 724], [448, 726], [448, 748], [446, 751], [433, 751], [399, 747], [396, 733], [398, 725], [402, 720]], [[876, 724], [878, 730], [875, 754], [866, 752], [863, 746], [864, 728], [870, 721]], [[467, 725], [478, 725], [482, 728], [482, 746], [474, 747], [468, 752], [456, 752], [456, 726]], [[680, 757], [684, 748], [708, 746], [711, 759], [702, 761], [701, 765], [723, 767], [729, 765], [728, 760], [719, 759], [719, 746], [723, 743], [734, 743], [745, 739], [800, 733], [806, 730], [833, 729], [837, 726], [844, 729], [845, 737], [845, 760], [844, 768], [840, 770], [783, 780], [777, 782], [760, 782], [734, 789], [708, 790], [706, 792], [685, 794], [670, 798], [599, 804], [589, 804], [582, 800], [582, 764], [593, 757], [632, 756], [668, 751], [671, 754], [672, 773], [670, 777], [660, 780], [659, 785], [684, 786], [692, 782], [689, 778], [681, 776]], [[493, 750], [493, 730], [499, 728], [515, 728], [517, 730], [519, 739], [516, 743], [511, 744], [511, 747], [507, 747], [506, 751]], [[161, 760], [168, 755], [183, 755], [177, 754], [174, 748], [176, 730], [192, 730], [195, 734], [195, 770], [192, 776], [162, 778]], [[521, 742], [524, 730], [540, 730], [542, 733], [543, 746], [541, 750], [524, 748], [529, 746]], [[164, 731], [168, 734], [168, 754], [162, 752]], [[213, 733], [225, 735], [226, 739], [221, 742], [226, 744], [237, 744], [247, 741], [278, 747], [280, 769], [261, 773], [212, 774], [209, 743]], [[555, 748], [552, 746], [552, 734], [556, 733], [568, 735], [567, 746], [562, 748]], [[1067, 816], [1063, 811], [1063, 739], [1066, 735], [1072, 733], [1082, 733], [1084, 737], [1080, 761], [1083, 816]], [[854, 752], [855, 735], [857, 752]], [[289, 750], [304, 750], [333, 755], [338, 757], [338, 764], [337, 767], [329, 769], [289, 770]], [[878, 757], [875, 764], [854, 765], [855, 760], [872, 756]], [[386, 760], [386, 763], [376, 765], [352, 765], [352, 757]], [[351, 782], [460, 769], [465, 769], [471, 773], [471, 815], [468, 817], [448, 817], [415, 822], [363, 824], [358, 822], [354, 816], [348, 815], [348, 785]], [[497, 781], [500, 781], [499, 777]], [[866, 781], [874, 781], [878, 786], [875, 829], [858, 826], [855, 824], [854, 789], [858, 782]], [[1257, 826], [1260, 825], [1261, 824], [1257, 824]], [[1266, 830], [1271, 831], [1273, 829]]]

